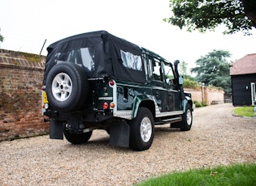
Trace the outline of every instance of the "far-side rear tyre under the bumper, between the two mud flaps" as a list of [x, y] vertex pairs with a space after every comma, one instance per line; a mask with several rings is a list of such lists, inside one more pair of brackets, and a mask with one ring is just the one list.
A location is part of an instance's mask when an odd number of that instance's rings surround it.
[[68, 142], [71, 142], [74, 145], [79, 145], [85, 142], [88, 142], [89, 138], [92, 136], [93, 131], [88, 133], [69, 133], [67, 130], [64, 131], [64, 136]]

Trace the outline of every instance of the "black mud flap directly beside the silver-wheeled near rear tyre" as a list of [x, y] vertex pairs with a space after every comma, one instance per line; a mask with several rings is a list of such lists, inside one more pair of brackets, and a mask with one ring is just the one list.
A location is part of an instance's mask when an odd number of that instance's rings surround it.
[[129, 146], [130, 126], [125, 120], [115, 121], [110, 126], [110, 144], [112, 146]]

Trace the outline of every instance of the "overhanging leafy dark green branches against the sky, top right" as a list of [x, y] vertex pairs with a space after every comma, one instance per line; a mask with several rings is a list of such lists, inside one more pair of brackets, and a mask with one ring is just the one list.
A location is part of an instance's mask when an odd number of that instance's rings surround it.
[[170, 0], [173, 15], [164, 21], [189, 32], [214, 30], [223, 24], [228, 29], [224, 34], [244, 32], [256, 27], [255, 0]]

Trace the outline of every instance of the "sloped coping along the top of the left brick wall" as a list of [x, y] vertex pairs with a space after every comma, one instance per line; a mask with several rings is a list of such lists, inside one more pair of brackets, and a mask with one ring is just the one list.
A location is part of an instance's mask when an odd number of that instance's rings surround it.
[[18, 68], [27, 70], [44, 70], [45, 69], [45, 56], [38, 56], [41, 61], [28, 61], [23, 57], [22, 53], [10, 50], [0, 50], [0, 67]]

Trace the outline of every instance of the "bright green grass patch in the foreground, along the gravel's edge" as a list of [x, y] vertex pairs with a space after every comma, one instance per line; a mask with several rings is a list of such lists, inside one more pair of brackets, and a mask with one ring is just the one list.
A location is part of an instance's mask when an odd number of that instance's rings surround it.
[[228, 167], [192, 169], [185, 172], [174, 172], [150, 180], [137, 186], [197, 186], [197, 185], [243, 185], [253, 186], [256, 183], [256, 164], [245, 163]]

